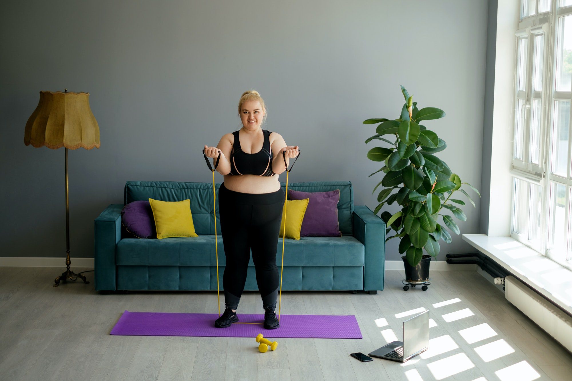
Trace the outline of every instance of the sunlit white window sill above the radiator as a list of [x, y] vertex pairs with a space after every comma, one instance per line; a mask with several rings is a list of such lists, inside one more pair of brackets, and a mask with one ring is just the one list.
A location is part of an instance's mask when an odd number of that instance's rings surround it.
[[572, 316], [572, 271], [513, 237], [463, 234], [463, 240]]

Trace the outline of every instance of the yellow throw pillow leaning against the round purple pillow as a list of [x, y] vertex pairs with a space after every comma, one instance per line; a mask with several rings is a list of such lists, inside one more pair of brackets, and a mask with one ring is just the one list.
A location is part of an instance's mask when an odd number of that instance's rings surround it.
[[190, 199], [183, 201], [160, 201], [149, 199], [157, 229], [157, 238], [198, 237], [194, 232]]

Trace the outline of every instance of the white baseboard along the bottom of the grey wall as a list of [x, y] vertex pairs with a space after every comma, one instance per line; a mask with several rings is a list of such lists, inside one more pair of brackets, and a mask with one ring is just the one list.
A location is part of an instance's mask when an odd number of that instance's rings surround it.
[[[93, 268], [93, 258], [71, 258], [70, 267]], [[66, 259], [59, 257], [0, 257], [0, 266], [66, 267]], [[448, 264], [446, 261], [431, 261], [434, 270], [476, 270], [475, 264]], [[386, 270], [403, 270], [403, 261], [386, 261]]]

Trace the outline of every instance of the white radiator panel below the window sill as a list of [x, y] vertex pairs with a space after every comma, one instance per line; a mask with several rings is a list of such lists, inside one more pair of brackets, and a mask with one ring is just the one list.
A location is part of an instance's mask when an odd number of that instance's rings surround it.
[[505, 278], [505, 297], [572, 352], [572, 318], [514, 276]]

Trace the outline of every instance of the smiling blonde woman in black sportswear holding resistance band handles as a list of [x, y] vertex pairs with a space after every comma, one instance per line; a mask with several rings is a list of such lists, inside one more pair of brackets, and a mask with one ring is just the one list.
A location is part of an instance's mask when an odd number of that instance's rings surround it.
[[[223, 287], [226, 309], [215, 327], [238, 322], [236, 309], [247, 279], [248, 261], [256, 268], [256, 282], [264, 307], [264, 328], [279, 328], [276, 299], [280, 285], [276, 248], [285, 194], [278, 175], [296, 157], [298, 146], [287, 146], [279, 133], [263, 130], [267, 112], [255, 90], [244, 92], [239, 101], [242, 128], [225, 134], [216, 147], [205, 145], [205, 155], [220, 160], [217, 171], [224, 175], [219, 188], [219, 220], [227, 265]], [[284, 154], [286, 163], [284, 164]]]

